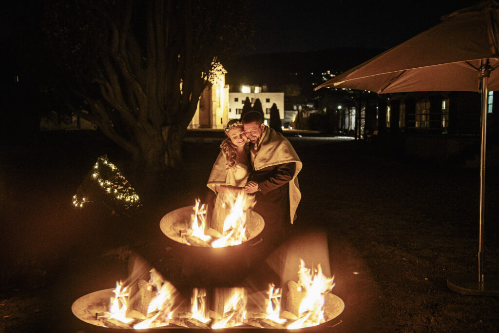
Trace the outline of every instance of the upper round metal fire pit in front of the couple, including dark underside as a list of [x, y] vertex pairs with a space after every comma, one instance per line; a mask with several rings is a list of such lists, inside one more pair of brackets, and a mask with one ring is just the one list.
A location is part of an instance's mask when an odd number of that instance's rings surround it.
[[[229, 225], [230, 228], [225, 228], [215, 241], [212, 236], [205, 235], [205, 230], [212, 228], [204, 225], [206, 210], [204, 206], [199, 205], [199, 201], [194, 207], [176, 209], [161, 219], [161, 231], [174, 241], [170, 246], [184, 258], [182, 274], [195, 281], [197, 286], [237, 286], [248, 276], [251, 261], [262, 252], [262, 240], [257, 237], [264, 228], [262, 217], [250, 210], [248, 204], [238, 206], [237, 201], [242, 199], [241, 196], [233, 199], [228, 207], [239, 208], [233, 208], [228, 214], [233, 221], [225, 223], [225, 226]], [[229, 220], [231, 219], [226, 219], [226, 222]], [[241, 221], [244, 224], [240, 223]], [[196, 236], [199, 234], [193, 229], [200, 229], [201, 235]], [[216, 231], [208, 233], [213, 234]], [[243, 236], [238, 242], [240, 244], [224, 239], [226, 234], [231, 233]], [[220, 240], [226, 241], [226, 246], [220, 247], [220, 244], [217, 244]]]

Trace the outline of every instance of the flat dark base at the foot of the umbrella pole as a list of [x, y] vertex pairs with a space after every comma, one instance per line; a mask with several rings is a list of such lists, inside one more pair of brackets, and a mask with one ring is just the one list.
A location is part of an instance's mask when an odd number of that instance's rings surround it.
[[463, 295], [481, 295], [499, 297], [499, 277], [484, 276], [480, 283], [476, 275], [459, 276], [447, 279], [447, 287]]

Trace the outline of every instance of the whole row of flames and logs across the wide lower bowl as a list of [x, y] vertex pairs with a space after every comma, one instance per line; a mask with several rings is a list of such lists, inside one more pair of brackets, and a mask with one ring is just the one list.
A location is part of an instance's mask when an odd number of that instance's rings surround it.
[[[298, 282], [288, 281], [282, 288], [270, 285], [266, 298], [251, 296], [245, 288], [194, 288], [190, 305], [177, 297], [173, 285], [151, 269], [149, 281], [136, 279], [116, 283], [109, 311], [95, 314], [100, 325], [109, 328], [148, 329], [177, 325], [187, 328], [223, 329], [241, 325], [260, 328], [299, 329], [316, 326], [341, 313], [331, 312], [334, 278], [305, 267], [300, 260]], [[255, 293], [254, 295], [261, 295]], [[175, 306], [175, 307], [174, 307]], [[343, 305], [339, 300], [338, 306]], [[184, 309], [179, 313], [179, 308]], [[88, 308], [88, 305], [85, 306]], [[327, 312], [325, 312], [325, 310]], [[329, 316], [329, 317], [328, 317]], [[331, 317], [334, 316], [334, 317]]]

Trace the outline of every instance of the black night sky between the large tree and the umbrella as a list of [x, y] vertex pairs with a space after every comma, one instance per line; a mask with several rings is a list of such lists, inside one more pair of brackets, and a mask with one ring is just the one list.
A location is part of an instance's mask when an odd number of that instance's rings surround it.
[[387, 49], [477, 0], [255, 0], [255, 53]]

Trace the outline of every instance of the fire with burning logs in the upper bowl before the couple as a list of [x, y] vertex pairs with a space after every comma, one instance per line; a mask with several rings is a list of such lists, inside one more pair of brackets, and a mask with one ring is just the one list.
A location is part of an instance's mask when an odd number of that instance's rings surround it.
[[[181, 232], [191, 245], [222, 248], [241, 244], [248, 240], [246, 223], [249, 211], [254, 207], [255, 200], [243, 192], [219, 194], [218, 200], [223, 200], [216, 206], [210, 225], [207, 222], [206, 205], [200, 205], [199, 199], [193, 207], [191, 227]], [[227, 212], [227, 214], [224, 214]], [[222, 223], [221, 223], [222, 222]]]

